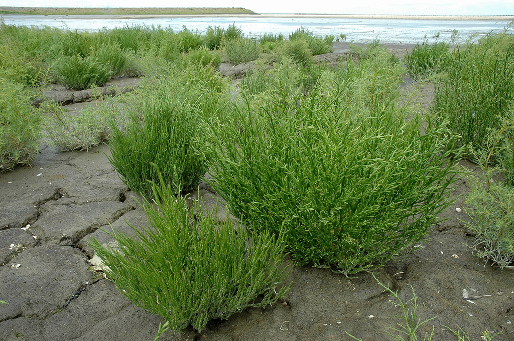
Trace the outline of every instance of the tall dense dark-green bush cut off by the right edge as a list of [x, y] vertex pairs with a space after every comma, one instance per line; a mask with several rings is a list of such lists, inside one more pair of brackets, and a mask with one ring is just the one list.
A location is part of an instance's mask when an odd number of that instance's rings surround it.
[[[491, 129], [499, 129], [514, 100], [514, 36], [509, 26], [476, 44], [456, 47], [447, 77], [436, 85], [433, 115], [448, 120], [453, 136], [448, 149], [488, 151]], [[477, 160], [475, 160], [477, 161]]]

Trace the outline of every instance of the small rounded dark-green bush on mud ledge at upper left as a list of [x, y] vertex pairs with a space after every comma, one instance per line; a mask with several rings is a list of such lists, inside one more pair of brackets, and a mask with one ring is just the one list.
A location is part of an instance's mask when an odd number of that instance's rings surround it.
[[54, 72], [65, 88], [76, 90], [104, 86], [112, 75], [111, 68], [97, 62], [94, 56], [82, 58], [80, 55], [62, 58], [54, 66]]

